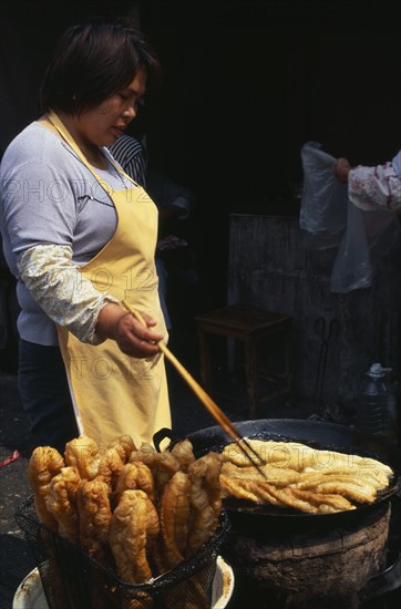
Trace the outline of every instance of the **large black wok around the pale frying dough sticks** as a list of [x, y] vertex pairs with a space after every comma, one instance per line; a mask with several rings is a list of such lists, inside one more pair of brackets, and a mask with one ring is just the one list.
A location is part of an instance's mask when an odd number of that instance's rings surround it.
[[[356, 454], [377, 458], [389, 465], [394, 476], [389, 487], [379, 494], [373, 504], [357, 506], [357, 509], [335, 514], [304, 514], [289, 508], [275, 508], [269, 505], [255, 506], [248, 502], [225, 499], [225, 507], [235, 531], [246, 531], [257, 539], [284, 533], [307, 533], [307, 530], [328, 530], [341, 527], [354, 530], [366, 526], [372, 519], [385, 514], [389, 502], [401, 488], [401, 451], [378, 436], [358, 430], [318, 421], [289, 419], [267, 419], [236, 423], [244, 437], [275, 440], [280, 442], [300, 442], [313, 448], [332, 450], [346, 454]], [[222, 452], [232, 440], [219, 426], [206, 427], [187, 436], [196, 456], [209, 451]], [[366, 519], [367, 518], [367, 519]], [[387, 570], [370, 578], [361, 599], [367, 600], [397, 590], [401, 586], [401, 554], [392, 557]]]

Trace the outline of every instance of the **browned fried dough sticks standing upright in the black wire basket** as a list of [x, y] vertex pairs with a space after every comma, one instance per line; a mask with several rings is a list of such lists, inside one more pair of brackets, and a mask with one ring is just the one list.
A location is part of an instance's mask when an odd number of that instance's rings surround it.
[[[44, 527], [125, 582], [143, 584], [213, 537], [222, 514], [220, 469], [222, 455], [196, 458], [188, 440], [158, 453], [150, 444], [136, 448], [127, 435], [104, 447], [81, 435], [65, 445], [64, 455], [37, 447], [28, 478]], [[196, 607], [206, 607], [198, 588]], [[152, 606], [147, 600], [144, 607]]]

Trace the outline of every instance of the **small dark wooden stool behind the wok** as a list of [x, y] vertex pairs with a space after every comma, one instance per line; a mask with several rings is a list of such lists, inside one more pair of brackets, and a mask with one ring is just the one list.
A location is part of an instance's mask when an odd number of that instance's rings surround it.
[[[291, 333], [292, 318], [282, 313], [249, 309], [239, 306], [225, 307], [196, 317], [199, 340], [200, 375], [206, 391], [212, 392], [210, 334], [218, 334], [243, 342], [245, 358], [246, 391], [249, 416], [253, 419], [257, 404], [280, 395], [290, 396], [292, 384]], [[284, 370], [259, 370], [258, 347], [268, 347], [269, 339], [284, 349]], [[259, 393], [259, 379], [273, 381], [271, 390]]]

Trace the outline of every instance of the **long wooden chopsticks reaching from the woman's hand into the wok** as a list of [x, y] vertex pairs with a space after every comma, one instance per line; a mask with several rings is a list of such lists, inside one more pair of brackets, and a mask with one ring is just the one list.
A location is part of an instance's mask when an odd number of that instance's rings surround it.
[[[135, 319], [137, 319], [137, 321], [140, 321], [143, 326], [146, 326], [146, 321], [144, 320], [144, 318], [141, 316], [138, 311], [136, 311], [126, 300], [123, 300], [122, 303], [124, 304], [125, 309], [130, 311], [130, 313], [132, 313], [135, 317]], [[250, 446], [249, 442], [241, 436], [239, 431], [229, 421], [226, 414], [219, 409], [216, 402], [212, 400], [212, 398], [199, 385], [199, 383], [195, 381], [192, 374], [183, 367], [183, 364], [177, 360], [177, 358], [171, 352], [168, 347], [166, 347], [163, 342], [158, 342], [157, 344], [160, 350], [166, 357], [166, 359], [174, 365], [177, 372], [183, 376], [183, 379], [193, 390], [195, 395], [200, 400], [200, 402], [204, 404], [204, 406], [206, 406], [206, 409], [215, 419], [215, 421], [220, 425], [223, 431], [226, 432], [226, 434], [232, 440], [234, 440], [234, 442], [237, 443], [243, 454], [249, 460], [249, 462], [254, 465], [254, 467], [257, 468], [259, 474], [265, 479], [267, 479], [265, 472], [260, 468], [260, 465], [265, 464], [260, 455], [258, 455], [258, 453]], [[257, 461], [255, 460], [255, 457]]]

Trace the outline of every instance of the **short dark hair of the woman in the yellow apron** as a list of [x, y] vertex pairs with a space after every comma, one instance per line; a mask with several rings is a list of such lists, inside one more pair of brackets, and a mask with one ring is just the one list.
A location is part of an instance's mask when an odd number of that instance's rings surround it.
[[41, 112], [80, 114], [125, 89], [140, 70], [146, 89], [161, 78], [156, 54], [128, 19], [92, 19], [72, 25], [59, 40], [39, 94]]

